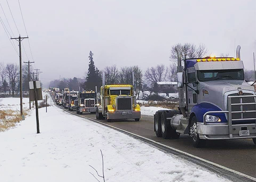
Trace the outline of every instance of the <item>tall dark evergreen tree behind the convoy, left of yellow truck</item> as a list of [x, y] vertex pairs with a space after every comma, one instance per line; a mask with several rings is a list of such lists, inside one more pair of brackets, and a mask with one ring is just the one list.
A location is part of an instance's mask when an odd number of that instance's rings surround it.
[[89, 68], [86, 76], [86, 81], [84, 83], [84, 87], [87, 91], [95, 90], [95, 86], [101, 87], [101, 72], [98, 68], [95, 68], [94, 61], [93, 61], [93, 53], [90, 51], [89, 54]]

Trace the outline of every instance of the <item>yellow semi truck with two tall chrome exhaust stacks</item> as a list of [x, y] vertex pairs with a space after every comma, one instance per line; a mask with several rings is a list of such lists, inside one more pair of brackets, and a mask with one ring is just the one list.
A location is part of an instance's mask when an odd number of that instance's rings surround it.
[[140, 106], [136, 104], [133, 85], [105, 85], [105, 74], [102, 76], [100, 105], [96, 108], [96, 119], [135, 119], [140, 120]]

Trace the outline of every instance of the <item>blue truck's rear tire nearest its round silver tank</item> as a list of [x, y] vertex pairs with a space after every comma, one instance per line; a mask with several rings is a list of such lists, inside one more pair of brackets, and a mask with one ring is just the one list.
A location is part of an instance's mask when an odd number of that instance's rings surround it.
[[161, 133], [162, 138], [180, 138], [180, 134], [177, 133], [170, 124], [170, 121], [167, 121], [167, 118], [172, 118], [175, 114], [179, 114], [180, 112], [177, 110], [163, 110], [161, 115]]

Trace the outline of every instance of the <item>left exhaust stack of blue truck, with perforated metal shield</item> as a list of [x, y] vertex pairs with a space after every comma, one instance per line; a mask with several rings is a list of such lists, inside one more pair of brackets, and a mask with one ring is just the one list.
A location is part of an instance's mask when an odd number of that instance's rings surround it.
[[[183, 66], [181, 66], [181, 52], [178, 50], [177, 47], [175, 47], [175, 51], [177, 52], [177, 58], [178, 58], [178, 66], [177, 66], [177, 73], [183, 74]], [[184, 80], [183, 80], [184, 81]], [[178, 88], [178, 96], [179, 96], [179, 108], [184, 117], [187, 117], [186, 111], [185, 111], [185, 96], [184, 96], [184, 86]]]

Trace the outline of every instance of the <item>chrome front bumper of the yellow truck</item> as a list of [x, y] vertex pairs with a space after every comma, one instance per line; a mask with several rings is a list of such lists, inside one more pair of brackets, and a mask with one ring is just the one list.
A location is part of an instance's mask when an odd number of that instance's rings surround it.
[[140, 111], [114, 111], [108, 112], [108, 119], [137, 119], [140, 118]]

